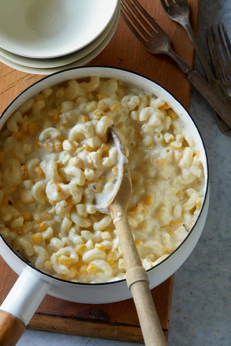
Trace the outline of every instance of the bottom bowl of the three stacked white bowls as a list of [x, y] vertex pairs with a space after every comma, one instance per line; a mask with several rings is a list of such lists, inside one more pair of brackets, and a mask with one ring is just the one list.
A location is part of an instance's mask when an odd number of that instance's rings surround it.
[[23, 71], [26, 73], [34, 73], [34, 74], [43, 74], [43, 75], [44, 74], [52, 74], [52, 73], [61, 71], [64, 68], [68, 69], [68, 68], [83, 66], [83, 65], [87, 64], [89, 61], [91, 61], [92, 59], [94, 59], [108, 45], [108, 43], [112, 39], [112, 37], [115, 33], [115, 30], [117, 28], [118, 21], [119, 21], [119, 15], [120, 15], [120, 4], [118, 4], [116, 16], [115, 16], [115, 21], [114, 21], [111, 29], [109, 30], [109, 33], [105, 37], [105, 39], [92, 52], [90, 52], [86, 56], [82, 57], [80, 60], [74, 61], [73, 63], [66, 64], [65, 66], [57, 66], [57, 67], [51, 67], [51, 68], [45, 68], [45, 69], [43, 68], [42, 69], [42, 68], [35, 68], [35, 67], [29, 67], [26, 65], [17, 64], [11, 60], [8, 60], [4, 56], [2, 56], [1, 53], [0, 53], [0, 61], [2, 63], [12, 67], [13, 69], [18, 70], [18, 71]]

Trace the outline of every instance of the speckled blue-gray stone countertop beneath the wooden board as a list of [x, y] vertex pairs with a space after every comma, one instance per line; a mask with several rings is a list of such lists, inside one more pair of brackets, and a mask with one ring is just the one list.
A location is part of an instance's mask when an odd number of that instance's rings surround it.
[[[222, 21], [231, 37], [231, 1], [201, 0], [198, 39], [207, 57], [204, 28], [210, 24], [216, 27], [216, 23]], [[197, 59], [195, 69], [203, 73]], [[175, 274], [168, 345], [230, 346], [231, 138], [221, 134], [211, 108], [195, 90], [192, 91], [190, 113], [207, 148], [210, 207], [201, 239]], [[18, 345], [134, 344], [27, 330]]]

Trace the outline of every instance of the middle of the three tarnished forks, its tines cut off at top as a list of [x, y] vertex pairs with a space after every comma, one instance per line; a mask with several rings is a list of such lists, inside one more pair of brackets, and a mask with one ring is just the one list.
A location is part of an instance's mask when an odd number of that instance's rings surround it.
[[[223, 97], [226, 100], [226, 102], [231, 106], [231, 100], [229, 100], [230, 94], [228, 93], [226, 89], [224, 89], [224, 87], [219, 82], [221, 81], [221, 79], [217, 78], [217, 75], [216, 75], [216, 78], [214, 78], [214, 75], [210, 69], [210, 66], [208, 65], [207, 60], [201, 48], [199, 47], [197, 38], [194, 34], [192, 26], [190, 25], [189, 6], [188, 6], [187, 0], [175, 0], [175, 2], [173, 2], [172, 0], [168, 0], [168, 4], [166, 4], [165, 0], [160, 0], [160, 3], [165, 13], [167, 14], [167, 16], [170, 19], [178, 22], [180, 25], [182, 25], [185, 28], [190, 40], [192, 41], [196, 54], [199, 58], [199, 61], [201, 62], [201, 65], [205, 72], [208, 83], [212, 85], [214, 90], [219, 95], [221, 95], [221, 97]], [[231, 47], [230, 47], [230, 50], [231, 50]], [[226, 136], [231, 136], [230, 127], [228, 127], [225, 124], [225, 122], [215, 112], [214, 112], [214, 115], [222, 133]]]

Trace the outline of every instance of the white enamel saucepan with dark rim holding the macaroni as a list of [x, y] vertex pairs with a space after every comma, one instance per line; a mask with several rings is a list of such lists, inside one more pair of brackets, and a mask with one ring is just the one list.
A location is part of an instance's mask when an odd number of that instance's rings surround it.
[[[187, 257], [193, 251], [193, 248], [195, 247], [204, 228], [208, 211], [208, 162], [205, 146], [195, 122], [182, 104], [176, 100], [176, 98], [166, 89], [162, 88], [162, 86], [137, 73], [113, 67], [78, 67], [75, 69], [64, 70], [45, 77], [23, 91], [2, 113], [0, 118], [0, 128], [23, 102], [30, 97], [33, 97], [39, 91], [66, 80], [79, 79], [92, 75], [99, 75], [102, 78], [116, 78], [126, 81], [127, 83], [131, 83], [146, 91], [152, 92], [158, 97], [166, 100], [166, 102], [168, 102], [168, 104], [178, 113], [185, 126], [190, 129], [190, 133], [193, 135], [197, 144], [197, 149], [202, 153], [205, 187], [204, 200], [200, 214], [195, 222], [195, 225], [183, 243], [181, 243], [181, 245], [164, 261], [148, 270], [150, 288], [154, 288], [172, 275], [185, 262]], [[19, 257], [19, 255], [10, 248], [10, 246], [1, 236], [0, 254], [7, 264], [19, 275], [15, 285], [12, 287], [5, 301], [3, 301], [0, 306], [0, 318], [6, 322], [4, 324], [5, 329], [3, 328], [4, 331], [1, 331], [0, 328], [0, 345], [14, 345], [17, 343], [17, 340], [19, 339], [20, 334], [23, 332], [25, 325], [27, 325], [29, 320], [32, 318], [46, 293], [57, 298], [80, 303], [109, 303], [132, 297], [131, 292], [127, 288], [125, 280], [109, 283], [86, 284], [64, 281], [62, 279], [57, 279], [51, 275], [45, 274]], [[12, 336], [11, 344], [7, 343], [6, 340], [8, 338], [10, 328], [7, 327], [9, 318], [14, 319], [14, 323], [11, 321], [11, 326], [13, 323], [15, 330], [21, 330], [16, 333], [17, 335]], [[5, 343], [2, 342], [2, 344], [1, 333], [2, 340], [5, 340]]]

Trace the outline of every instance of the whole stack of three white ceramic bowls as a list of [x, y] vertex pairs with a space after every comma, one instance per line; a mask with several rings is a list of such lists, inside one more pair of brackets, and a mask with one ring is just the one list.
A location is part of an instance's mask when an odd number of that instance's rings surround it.
[[0, 61], [51, 74], [82, 66], [109, 43], [119, 0], [0, 0]]

